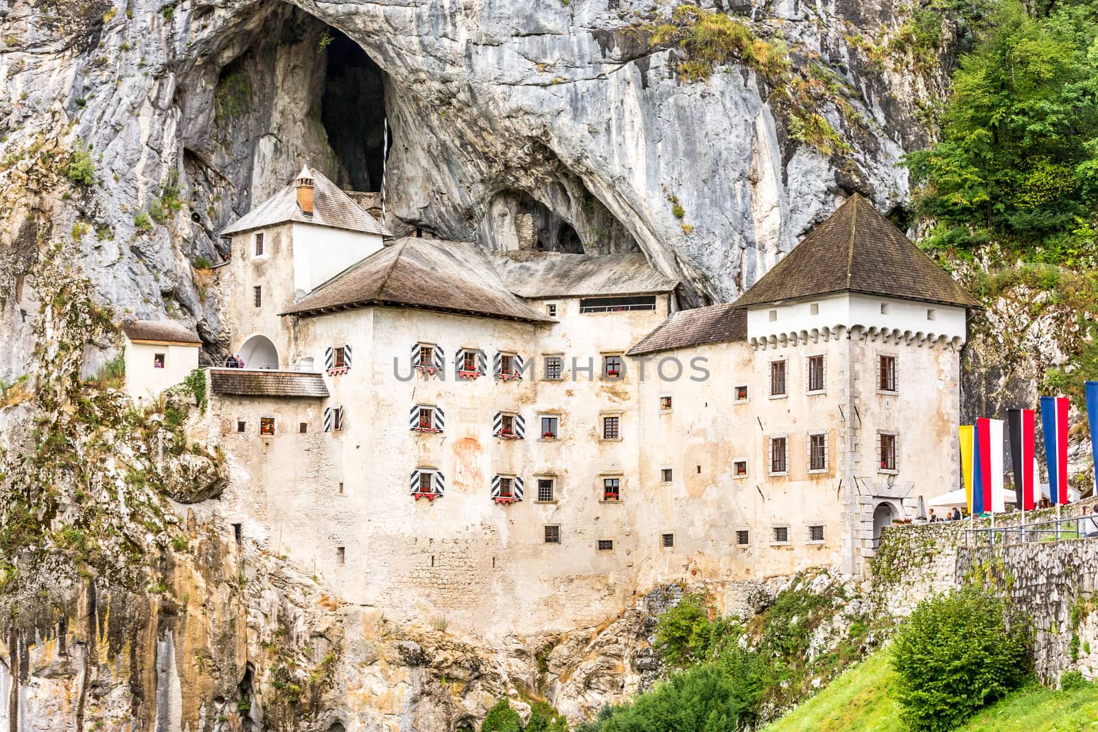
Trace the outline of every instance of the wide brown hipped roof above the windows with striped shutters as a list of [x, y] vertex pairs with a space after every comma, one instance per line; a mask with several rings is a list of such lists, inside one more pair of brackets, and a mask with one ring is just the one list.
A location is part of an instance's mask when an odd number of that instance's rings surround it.
[[552, 322], [508, 292], [485, 250], [462, 241], [421, 238], [394, 240], [281, 315], [318, 315], [368, 305]]

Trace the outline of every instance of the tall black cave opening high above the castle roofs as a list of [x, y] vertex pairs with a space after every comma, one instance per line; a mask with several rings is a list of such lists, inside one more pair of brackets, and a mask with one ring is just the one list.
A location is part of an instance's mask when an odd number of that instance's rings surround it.
[[384, 161], [385, 85], [381, 68], [357, 43], [328, 27], [321, 122], [349, 187], [378, 192]]

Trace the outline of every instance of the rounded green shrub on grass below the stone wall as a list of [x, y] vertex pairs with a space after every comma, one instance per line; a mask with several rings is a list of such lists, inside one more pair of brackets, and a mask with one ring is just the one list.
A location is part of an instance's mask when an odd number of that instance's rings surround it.
[[919, 604], [893, 641], [893, 667], [911, 729], [939, 732], [1020, 686], [1029, 658], [1001, 601], [966, 588]]

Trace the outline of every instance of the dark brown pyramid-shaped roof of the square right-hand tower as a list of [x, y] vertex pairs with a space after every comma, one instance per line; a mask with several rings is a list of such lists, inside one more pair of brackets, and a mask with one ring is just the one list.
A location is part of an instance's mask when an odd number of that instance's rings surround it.
[[977, 307], [972, 295], [856, 193], [808, 233], [737, 305], [836, 292]]

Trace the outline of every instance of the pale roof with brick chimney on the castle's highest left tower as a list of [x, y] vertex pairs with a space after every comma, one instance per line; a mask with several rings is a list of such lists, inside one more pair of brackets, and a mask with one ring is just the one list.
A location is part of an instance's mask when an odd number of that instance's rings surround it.
[[313, 176], [313, 214], [304, 213], [298, 206], [298, 190], [294, 181], [267, 199], [247, 214], [238, 218], [221, 233], [222, 236], [239, 234], [265, 226], [274, 226], [287, 222], [332, 226], [350, 232], [380, 234], [390, 236], [389, 230], [366, 213], [361, 206], [339, 190], [339, 187], [316, 170], [310, 170]]

